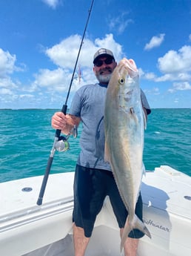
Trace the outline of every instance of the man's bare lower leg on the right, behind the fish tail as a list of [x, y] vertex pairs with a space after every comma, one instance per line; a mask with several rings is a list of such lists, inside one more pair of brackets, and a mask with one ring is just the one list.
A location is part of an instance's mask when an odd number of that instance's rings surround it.
[[[120, 229], [120, 235], [122, 235], [124, 229]], [[138, 249], [138, 239], [127, 237], [124, 243], [124, 256], [136, 256]]]

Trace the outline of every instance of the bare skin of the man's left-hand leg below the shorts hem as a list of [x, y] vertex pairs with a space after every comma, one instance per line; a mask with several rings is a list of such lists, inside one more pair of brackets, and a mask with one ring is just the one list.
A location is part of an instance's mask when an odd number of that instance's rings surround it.
[[84, 236], [84, 229], [73, 223], [73, 243], [75, 256], [84, 256], [90, 238]]

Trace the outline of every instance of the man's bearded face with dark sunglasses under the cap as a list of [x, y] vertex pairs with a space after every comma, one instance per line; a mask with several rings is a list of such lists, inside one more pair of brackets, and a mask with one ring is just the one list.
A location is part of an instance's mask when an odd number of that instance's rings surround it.
[[93, 67], [93, 72], [95, 73], [98, 82], [101, 82], [101, 84], [108, 84], [116, 65], [117, 63], [112, 57], [104, 56], [98, 58]]

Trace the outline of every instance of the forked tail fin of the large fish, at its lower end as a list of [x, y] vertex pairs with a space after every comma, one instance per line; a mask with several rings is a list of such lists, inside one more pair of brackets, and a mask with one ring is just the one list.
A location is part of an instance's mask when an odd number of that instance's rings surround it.
[[130, 232], [133, 229], [138, 229], [141, 232], [143, 232], [144, 234], [147, 234], [147, 236], [151, 238], [151, 234], [150, 234], [149, 230], [147, 229], [147, 226], [145, 226], [144, 223], [141, 220], [139, 220], [136, 215], [133, 217], [133, 221], [131, 221], [131, 222], [130, 222], [129, 216], [128, 216], [125, 226], [124, 226], [124, 232], [121, 236], [121, 251], [124, 247], [124, 243], [128, 237], [128, 234], [130, 234]]

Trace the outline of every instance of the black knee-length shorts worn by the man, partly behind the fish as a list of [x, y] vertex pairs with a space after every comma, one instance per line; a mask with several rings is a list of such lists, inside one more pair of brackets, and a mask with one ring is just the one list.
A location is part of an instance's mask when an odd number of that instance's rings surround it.
[[[84, 229], [86, 237], [91, 237], [96, 216], [101, 211], [105, 197], [110, 197], [119, 228], [124, 228], [127, 209], [121, 200], [112, 171], [86, 168], [76, 165], [74, 180], [73, 222]], [[143, 203], [141, 194], [135, 208], [135, 214], [142, 220]], [[133, 229], [129, 237], [141, 238], [144, 233]]]

